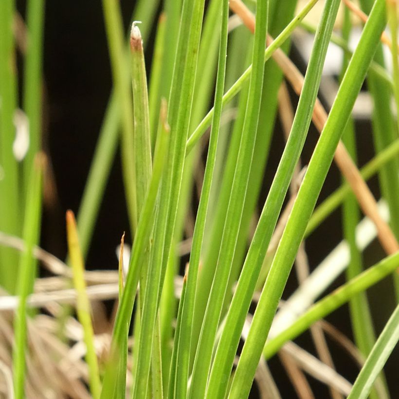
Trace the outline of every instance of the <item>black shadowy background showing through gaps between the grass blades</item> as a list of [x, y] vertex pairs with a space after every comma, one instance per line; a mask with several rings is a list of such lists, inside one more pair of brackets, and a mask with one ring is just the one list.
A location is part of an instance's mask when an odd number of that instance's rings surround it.
[[[25, 1], [18, 0], [18, 10], [24, 15]], [[121, 1], [126, 26], [128, 25], [134, 1]], [[41, 245], [56, 256], [65, 258], [65, 211], [75, 213], [81, 200], [98, 132], [107, 107], [111, 89], [111, 73], [107, 40], [103, 23], [101, 1], [62, 2], [47, 1], [44, 34], [44, 145], [48, 148], [54, 171], [56, 201], [46, 206], [43, 217]], [[150, 66], [154, 32], [145, 43], [147, 68]], [[291, 57], [305, 72], [298, 52], [293, 49]], [[292, 96], [296, 102], [295, 96]], [[368, 121], [357, 123], [359, 163], [363, 165], [373, 155], [372, 137]], [[308, 163], [318, 134], [310, 128], [302, 155], [303, 164]], [[263, 191], [259, 209], [266, 198], [280, 155], [284, 148], [283, 135], [277, 121], [272, 139], [271, 156], [265, 171]], [[340, 174], [332, 165], [320, 199], [324, 199], [340, 182]], [[371, 188], [379, 198], [378, 181], [371, 181]], [[99, 218], [96, 224], [91, 250], [88, 256], [89, 269], [110, 269], [117, 267], [115, 247], [121, 234], [128, 229], [124, 204], [124, 190], [120, 160], [113, 163], [109, 182], [104, 194]], [[306, 242], [310, 267], [314, 268], [342, 239], [341, 210], [334, 212], [316, 233]], [[131, 239], [127, 238], [127, 242]], [[366, 266], [383, 257], [381, 247], [373, 243], [364, 253]], [[334, 284], [344, 282], [340, 277]], [[295, 289], [296, 277], [291, 273], [284, 297]], [[390, 279], [368, 291], [377, 333], [384, 326], [394, 306], [394, 291]], [[344, 306], [330, 315], [327, 320], [352, 339], [348, 308]], [[296, 341], [312, 353], [314, 348], [308, 333]], [[358, 373], [354, 363], [343, 350], [331, 345], [338, 372], [353, 382]], [[399, 398], [398, 350], [388, 361], [385, 371], [393, 398]], [[283, 398], [296, 397], [285, 370], [277, 357], [270, 361], [273, 377]], [[329, 396], [325, 385], [309, 377], [317, 398]], [[256, 397], [256, 389], [253, 389]]]

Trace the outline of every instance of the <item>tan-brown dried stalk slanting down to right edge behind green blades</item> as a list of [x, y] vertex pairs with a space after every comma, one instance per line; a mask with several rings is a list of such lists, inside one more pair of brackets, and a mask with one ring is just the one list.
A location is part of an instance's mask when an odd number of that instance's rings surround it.
[[[255, 17], [246, 5], [241, 0], [230, 0], [230, 8], [242, 19], [247, 28], [251, 32], [254, 32]], [[268, 35], [267, 45], [270, 45], [272, 41], [273, 38]], [[277, 49], [273, 53], [272, 57], [290, 82], [295, 93], [300, 95], [304, 85], [304, 76], [302, 73], [299, 72], [290, 58], [281, 49]], [[316, 99], [313, 109], [312, 120], [317, 130], [321, 132], [327, 120], [327, 113], [318, 99]], [[359, 169], [353, 163], [341, 141], [335, 151], [334, 159], [342, 174], [345, 176], [345, 179], [350, 184], [363, 213], [376, 225], [378, 238], [384, 251], [387, 254], [396, 253], [399, 250], [398, 241], [392, 233], [389, 225], [381, 218], [373, 194], [364, 182]]]

